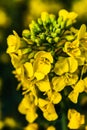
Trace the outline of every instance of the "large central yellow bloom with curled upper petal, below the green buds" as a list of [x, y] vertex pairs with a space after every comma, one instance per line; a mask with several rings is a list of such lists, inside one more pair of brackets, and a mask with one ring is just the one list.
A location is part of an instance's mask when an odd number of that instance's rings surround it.
[[34, 76], [37, 80], [43, 79], [51, 70], [53, 57], [50, 52], [40, 51], [35, 55]]

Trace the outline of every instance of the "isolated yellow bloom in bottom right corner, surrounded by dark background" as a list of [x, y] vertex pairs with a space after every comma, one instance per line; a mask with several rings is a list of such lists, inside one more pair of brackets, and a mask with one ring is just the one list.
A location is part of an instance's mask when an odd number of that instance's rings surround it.
[[68, 110], [68, 127], [70, 129], [78, 129], [85, 122], [85, 116], [81, 115], [74, 109]]

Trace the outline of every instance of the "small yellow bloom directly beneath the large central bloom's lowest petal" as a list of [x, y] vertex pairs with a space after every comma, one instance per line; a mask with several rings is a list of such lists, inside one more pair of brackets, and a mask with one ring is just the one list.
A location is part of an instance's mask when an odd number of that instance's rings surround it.
[[45, 79], [36, 82], [36, 85], [38, 86], [39, 90], [42, 92], [45, 91], [47, 92], [48, 90], [51, 89], [48, 77], [45, 77]]

